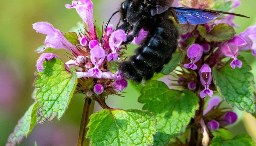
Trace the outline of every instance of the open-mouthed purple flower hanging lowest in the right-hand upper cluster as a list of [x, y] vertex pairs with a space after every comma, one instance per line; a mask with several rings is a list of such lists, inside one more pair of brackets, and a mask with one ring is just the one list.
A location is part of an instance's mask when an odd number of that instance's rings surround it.
[[211, 68], [207, 64], [202, 65], [199, 70], [200, 81], [201, 84], [204, 86], [204, 90], [200, 92], [201, 98], [204, 98], [206, 94], [212, 97], [213, 91], [209, 89], [209, 85], [212, 82], [211, 72]]

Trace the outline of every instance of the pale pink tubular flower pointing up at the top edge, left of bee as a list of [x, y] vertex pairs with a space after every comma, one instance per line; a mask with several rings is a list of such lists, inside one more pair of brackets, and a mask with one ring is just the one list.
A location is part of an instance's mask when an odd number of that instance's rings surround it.
[[78, 15], [87, 24], [89, 32], [95, 36], [94, 19], [93, 19], [93, 3], [90, 0], [72, 1], [72, 5], [66, 4], [67, 9], [75, 8]]

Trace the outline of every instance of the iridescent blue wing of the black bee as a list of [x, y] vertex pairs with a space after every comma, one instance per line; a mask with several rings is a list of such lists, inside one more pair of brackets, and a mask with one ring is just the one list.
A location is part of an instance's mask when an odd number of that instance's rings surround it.
[[214, 11], [214, 10], [207, 10], [207, 9], [171, 7], [169, 8], [169, 10], [172, 12], [172, 16], [174, 17], [175, 21], [179, 24], [208, 23], [216, 19], [220, 15], [220, 13], [247, 17], [244, 15], [236, 14], [236, 13]]

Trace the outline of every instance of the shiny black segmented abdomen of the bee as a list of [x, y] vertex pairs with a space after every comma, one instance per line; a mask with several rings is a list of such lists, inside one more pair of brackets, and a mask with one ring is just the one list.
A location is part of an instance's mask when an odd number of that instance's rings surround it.
[[141, 82], [143, 78], [149, 80], [172, 58], [178, 38], [172, 21], [162, 19], [152, 28], [141, 46], [135, 50], [135, 55], [121, 64], [121, 75], [124, 78], [135, 82]]

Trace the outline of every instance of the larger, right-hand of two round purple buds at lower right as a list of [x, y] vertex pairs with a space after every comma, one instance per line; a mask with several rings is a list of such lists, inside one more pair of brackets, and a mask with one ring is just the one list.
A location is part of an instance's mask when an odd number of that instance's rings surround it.
[[222, 124], [222, 125], [230, 125], [230, 124], [233, 124], [235, 123], [237, 120], [237, 115], [236, 113], [232, 112], [232, 111], [229, 111], [227, 112], [226, 114], [222, 115], [220, 118], [219, 118], [219, 122]]

